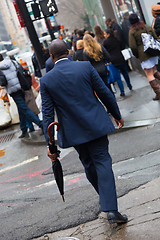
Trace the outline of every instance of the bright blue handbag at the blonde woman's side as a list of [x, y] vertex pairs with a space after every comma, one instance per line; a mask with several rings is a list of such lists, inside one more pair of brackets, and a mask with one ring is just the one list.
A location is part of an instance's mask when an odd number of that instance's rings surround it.
[[108, 77], [107, 77], [108, 84], [114, 83], [121, 78], [119, 69], [116, 68], [111, 62], [107, 62], [105, 66], [108, 71]]

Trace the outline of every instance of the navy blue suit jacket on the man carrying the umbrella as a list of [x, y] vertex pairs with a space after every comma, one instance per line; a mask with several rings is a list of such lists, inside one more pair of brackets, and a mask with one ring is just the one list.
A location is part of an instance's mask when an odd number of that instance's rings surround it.
[[44, 134], [57, 112], [61, 148], [76, 146], [115, 130], [104, 103], [112, 116], [121, 118], [115, 97], [90, 62], [61, 60], [40, 79]]

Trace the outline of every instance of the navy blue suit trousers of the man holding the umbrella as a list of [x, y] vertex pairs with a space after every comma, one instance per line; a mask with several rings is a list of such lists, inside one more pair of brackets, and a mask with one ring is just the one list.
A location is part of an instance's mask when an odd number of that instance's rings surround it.
[[75, 146], [85, 168], [87, 179], [99, 194], [101, 210], [104, 212], [118, 210], [112, 159], [108, 153], [108, 144], [107, 136], [103, 136]]

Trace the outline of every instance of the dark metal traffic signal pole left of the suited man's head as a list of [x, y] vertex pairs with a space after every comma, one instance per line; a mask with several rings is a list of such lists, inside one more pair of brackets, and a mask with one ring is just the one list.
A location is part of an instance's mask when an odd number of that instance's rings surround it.
[[32, 23], [32, 20], [30, 18], [28, 9], [26, 7], [26, 3], [24, 0], [16, 0], [17, 6], [19, 7], [21, 14], [23, 16], [26, 28], [28, 30], [29, 38], [32, 42], [33, 48], [35, 50], [36, 56], [38, 58], [38, 62], [40, 64], [41, 68], [44, 68], [45, 66], [45, 60], [44, 60], [44, 53], [42, 51], [42, 47], [40, 44], [40, 41], [38, 39], [37, 33], [35, 31], [34, 25]]

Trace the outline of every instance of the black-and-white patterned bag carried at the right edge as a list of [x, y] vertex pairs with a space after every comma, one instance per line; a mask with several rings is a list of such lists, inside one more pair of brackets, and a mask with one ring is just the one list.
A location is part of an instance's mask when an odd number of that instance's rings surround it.
[[151, 57], [160, 55], [160, 42], [149, 33], [147, 26], [145, 26], [147, 33], [141, 33], [144, 52]]

